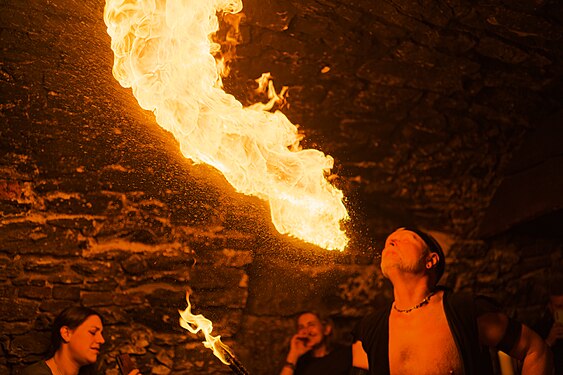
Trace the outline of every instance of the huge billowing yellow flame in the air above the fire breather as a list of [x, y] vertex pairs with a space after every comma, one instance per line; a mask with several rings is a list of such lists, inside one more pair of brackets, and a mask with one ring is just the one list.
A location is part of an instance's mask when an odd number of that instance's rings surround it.
[[325, 178], [333, 159], [302, 149], [297, 127], [273, 102], [249, 107], [222, 88], [211, 37], [237, 0], [106, 0], [113, 74], [174, 134], [184, 156], [220, 170], [237, 191], [267, 200], [276, 229], [343, 250], [343, 194]]

